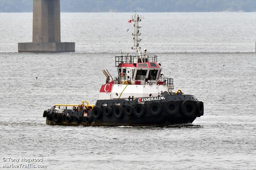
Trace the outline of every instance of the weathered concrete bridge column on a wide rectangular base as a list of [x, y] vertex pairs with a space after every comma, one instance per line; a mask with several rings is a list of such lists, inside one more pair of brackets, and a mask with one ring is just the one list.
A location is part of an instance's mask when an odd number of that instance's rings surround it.
[[75, 42], [60, 42], [60, 0], [33, 1], [33, 42], [18, 43], [18, 51], [75, 51]]

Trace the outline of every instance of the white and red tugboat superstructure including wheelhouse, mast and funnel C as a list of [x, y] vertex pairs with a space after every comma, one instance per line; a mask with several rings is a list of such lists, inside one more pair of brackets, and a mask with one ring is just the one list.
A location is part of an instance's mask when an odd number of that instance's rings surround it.
[[[136, 55], [116, 56], [118, 77], [109, 82], [110, 74], [103, 70], [107, 77], [106, 84], [100, 88], [99, 100], [108, 99], [134, 99], [139, 97], [159, 97], [163, 93], [172, 92], [173, 79], [165, 78], [161, 74], [161, 64], [157, 63], [156, 55], [147, 55], [139, 46], [141, 35], [139, 22], [141, 16], [132, 16], [134, 33], [132, 33]], [[111, 77], [112, 78], [112, 77]]]

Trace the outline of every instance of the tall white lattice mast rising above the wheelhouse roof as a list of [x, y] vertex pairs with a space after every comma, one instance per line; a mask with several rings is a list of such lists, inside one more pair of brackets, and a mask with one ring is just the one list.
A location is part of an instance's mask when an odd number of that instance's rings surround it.
[[132, 15], [132, 21], [134, 22], [133, 24], [134, 33], [132, 33], [134, 44], [132, 49], [136, 50], [136, 56], [138, 56], [137, 58], [142, 60], [142, 54], [141, 54], [140, 45], [139, 45], [140, 41], [142, 40], [142, 38], [139, 38], [139, 36], [141, 35], [139, 31], [139, 28], [141, 28], [141, 26], [139, 26], [139, 22], [141, 21], [141, 18], [144, 18], [144, 17], [141, 17], [141, 15], [140, 16], [136, 15], [136, 13], [134, 16]]

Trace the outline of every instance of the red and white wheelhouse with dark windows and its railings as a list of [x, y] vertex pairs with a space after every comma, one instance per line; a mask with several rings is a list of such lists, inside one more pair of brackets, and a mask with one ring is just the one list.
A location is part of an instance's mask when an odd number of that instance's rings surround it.
[[114, 84], [168, 85], [173, 89], [173, 80], [161, 74], [156, 55], [116, 56], [116, 67], [118, 77], [114, 78]]

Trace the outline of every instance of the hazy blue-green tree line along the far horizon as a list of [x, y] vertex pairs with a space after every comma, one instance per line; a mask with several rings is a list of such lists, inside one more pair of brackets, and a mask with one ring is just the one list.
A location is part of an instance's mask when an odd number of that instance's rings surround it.
[[[0, 12], [32, 12], [33, 0], [0, 0]], [[255, 12], [256, 0], [60, 0], [61, 12]]]

